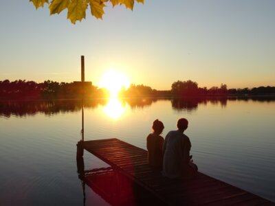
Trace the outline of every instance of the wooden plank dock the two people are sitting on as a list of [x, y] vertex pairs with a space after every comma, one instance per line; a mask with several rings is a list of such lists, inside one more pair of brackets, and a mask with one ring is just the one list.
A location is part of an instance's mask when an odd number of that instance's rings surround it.
[[78, 159], [83, 150], [91, 152], [131, 181], [162, 201], [163, 205], [275, 205], [198, 172], [190, 181], [171, 180], [148, 165], [147, 151], [119, 139], [78, 142]]

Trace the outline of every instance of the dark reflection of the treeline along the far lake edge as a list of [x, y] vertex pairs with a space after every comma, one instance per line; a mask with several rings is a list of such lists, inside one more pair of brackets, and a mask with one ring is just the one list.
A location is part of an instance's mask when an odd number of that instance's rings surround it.
[[[170, 101], [172, 108], [176, 111], [194, 111], [199, 104], [220, 104], [226, 106], [228, 101], [257, 101], [272, 102], [274, 97], [235, 97], [235, 98], [126, 98], [120, 99], [122, 106], [129, 105], [131, 109], [144, 108], [151, 106], [153, 102], [159, 100]], [[0, 102], [0, 116], [2, 117], [24, 117], [26, 115], [35, 115], [36, 113], [44, 113], [45, 115], [53, 115], [56, 113], [72, 113], [80, 111], [82, 104], [85, 108], [97, 108], [98, 106], [106, 106], [109, 99], [92, 99], [92, 100], [39, 100], [39, 101], [8, 101]]]

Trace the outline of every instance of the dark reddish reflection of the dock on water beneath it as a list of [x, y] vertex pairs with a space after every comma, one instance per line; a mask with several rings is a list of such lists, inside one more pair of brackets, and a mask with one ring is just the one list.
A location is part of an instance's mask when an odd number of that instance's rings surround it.
[[77, 158], [78, 179], [83, 189], [83, 205], [88, 205], [86, 186], [110, 205], [164, 205], [162, 201], [112, 167], [85, 170], [83, 157]]

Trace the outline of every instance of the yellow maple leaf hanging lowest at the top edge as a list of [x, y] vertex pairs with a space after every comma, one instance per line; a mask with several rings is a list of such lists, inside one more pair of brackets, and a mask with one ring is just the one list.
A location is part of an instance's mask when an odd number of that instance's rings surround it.
[[67, 19], [71, 20], [72, 23], [85, 19], [87, 6], [87, 0], [70, 1], [68, 5]]

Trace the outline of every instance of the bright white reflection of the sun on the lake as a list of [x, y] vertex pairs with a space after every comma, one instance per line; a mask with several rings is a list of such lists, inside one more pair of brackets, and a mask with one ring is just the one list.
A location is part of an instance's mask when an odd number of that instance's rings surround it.
[[109, 102], [103, 108], [104, 113], [113, 119], [118, 119], [124, 113], [125, 108], [118, 98], [110, 98]]

